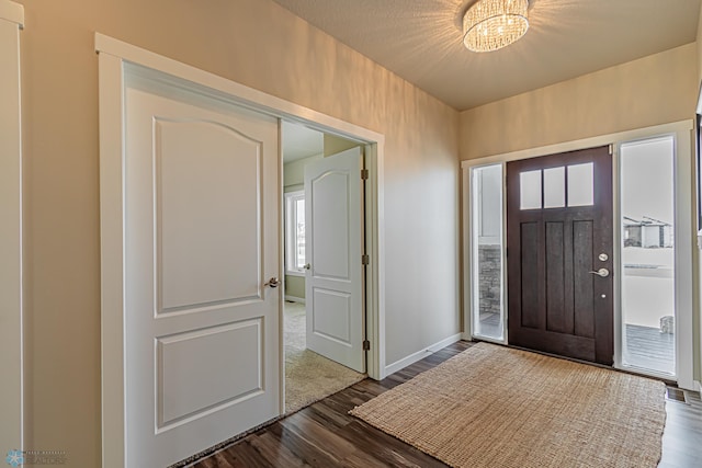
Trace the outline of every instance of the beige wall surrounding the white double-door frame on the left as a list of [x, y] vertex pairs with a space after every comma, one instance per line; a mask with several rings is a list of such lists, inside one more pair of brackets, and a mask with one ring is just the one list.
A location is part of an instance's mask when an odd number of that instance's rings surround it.
[[100, 466], [95, 31], [385, 134], [387, 362], [458, 331], [457, 112], [270, 0], [20, 3], [27, 449]]

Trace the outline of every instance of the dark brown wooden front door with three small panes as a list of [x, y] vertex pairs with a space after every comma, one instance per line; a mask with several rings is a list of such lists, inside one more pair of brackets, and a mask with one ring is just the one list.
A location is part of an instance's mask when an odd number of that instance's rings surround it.
[[609, 147], [507, 164], [510, 344], [612, 364], [612, 239]]

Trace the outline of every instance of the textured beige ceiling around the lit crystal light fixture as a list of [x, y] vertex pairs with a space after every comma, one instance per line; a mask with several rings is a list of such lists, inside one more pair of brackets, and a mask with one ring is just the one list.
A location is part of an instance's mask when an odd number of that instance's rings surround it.
[[694, 42], [702, 0], [532, 0], [503, 49], [462, 43], [471, 0], [274, 0], [446, 104], [466, 110]]

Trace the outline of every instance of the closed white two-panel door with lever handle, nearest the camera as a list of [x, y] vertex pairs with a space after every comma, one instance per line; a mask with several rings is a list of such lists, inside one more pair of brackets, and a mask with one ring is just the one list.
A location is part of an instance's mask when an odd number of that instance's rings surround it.
[[[151, 88], [149, 88], [151, 87]], [[126, 90], [128, 467], [162, 467], [279, 415], [278, 122]]]

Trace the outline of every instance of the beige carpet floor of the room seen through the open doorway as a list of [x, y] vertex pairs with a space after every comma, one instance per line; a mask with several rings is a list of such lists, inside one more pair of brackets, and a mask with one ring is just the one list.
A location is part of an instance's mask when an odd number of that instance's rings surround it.
[[365, 378], [306, 349], [304, 304], [285, 303], [284, 319], [286, 414]]

